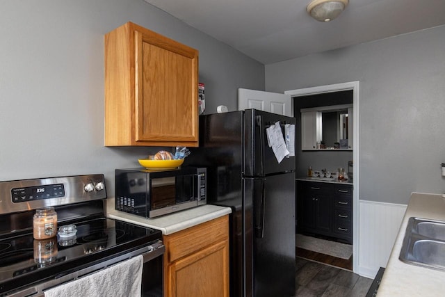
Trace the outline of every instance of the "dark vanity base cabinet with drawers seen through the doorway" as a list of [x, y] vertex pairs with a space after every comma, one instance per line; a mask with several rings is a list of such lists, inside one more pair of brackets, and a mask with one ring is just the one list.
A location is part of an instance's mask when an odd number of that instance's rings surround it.
[[353, 243], [353, 186], [297, 182], [297, 230]]

